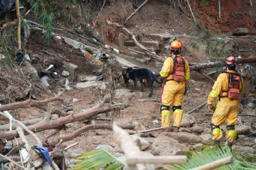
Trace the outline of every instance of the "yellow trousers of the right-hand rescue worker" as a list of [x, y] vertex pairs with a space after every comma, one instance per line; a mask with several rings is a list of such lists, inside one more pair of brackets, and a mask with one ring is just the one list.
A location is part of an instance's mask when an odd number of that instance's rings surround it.
[[[220, 98], [217, 102], [216, 110], [212, 118], [212, 124], [215, 126], [223, 125], [227, 121], [226, 140], [234, 142], [236, 140], [235, 124], [237, 123], [237, 114], [239, 110], [238, 100], [231, 100], [229, 98]], [[213, 140], [220, 140], [222, 132], [219, 127], [212, 130]]]

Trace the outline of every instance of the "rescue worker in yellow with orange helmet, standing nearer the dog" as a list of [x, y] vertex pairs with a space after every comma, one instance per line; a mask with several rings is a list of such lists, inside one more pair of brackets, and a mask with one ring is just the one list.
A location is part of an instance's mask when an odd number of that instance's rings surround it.
[[189, 65], [187, 60], [180, 55], [181, 48], [181, 43], [174, 39], [170, 45], [171, 55], [165, 57], [160, 71], [164, 79], [160, 100], [162, 102], [161, 127], [170, 126], [170, 106], [173, 104], [173, 126], [167, 130], [172, 132], [178, 132], [181, 125], [183, 116], [181, 104], [190, 79]]

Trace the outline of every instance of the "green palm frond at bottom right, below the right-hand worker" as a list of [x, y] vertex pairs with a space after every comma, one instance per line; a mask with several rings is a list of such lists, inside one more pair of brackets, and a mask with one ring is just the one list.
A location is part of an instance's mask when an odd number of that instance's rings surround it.
[[188, 161], [180, 165], [171, 165], [173, 170], [188, 170], [203, 166], [216, 160], [234, 156], [234, 162], [220, 167], [218, 170], [256, 170], [256, 166], [250, 164], [229, 147], [219, 149], [216, 146], [203, 146], [199, 152], [193, 150], [187, 153]]

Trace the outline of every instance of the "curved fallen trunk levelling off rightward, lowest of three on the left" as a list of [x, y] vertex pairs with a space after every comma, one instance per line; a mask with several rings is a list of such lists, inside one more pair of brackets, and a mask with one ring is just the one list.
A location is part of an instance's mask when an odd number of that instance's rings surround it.
[[[133, 129], [135, 126], [134, 125], [120, 125], [121, 128], [123, 129]], [[59, 137], [57, 139], [54, 139], [52, 142], [50, 142], [51, 144], [57, 144], [59, 143], [59, 141], [62, 139], [62, 142], [66, 142], [69, 140], [72, 140], [73, 138], [81, 135], [82, 133], [89, 131], [89, 130], [95, 130], [95, 129], [109, 129], [112, 130], [113, 126], [111, 124], [91, 124], [91, 125], [85, 125], [81, 128], [79, 128], [78, 130], [76, 130], [75, 132], [68, 134], [66, 136], [62, 136]]]

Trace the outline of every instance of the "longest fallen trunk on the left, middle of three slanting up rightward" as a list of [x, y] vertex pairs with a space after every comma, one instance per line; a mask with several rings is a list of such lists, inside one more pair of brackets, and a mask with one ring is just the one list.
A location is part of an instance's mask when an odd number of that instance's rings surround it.
[[[27, 128], [32, 132], [40, 132], [48, 129], [56, 129], [64, 124], [79, 121], [79, 120], [84, 120], [84, 119], [90, 119], [100, 113], [123, 109], [125, 107], [128, 107], [128, 105], [129, 104], [127, 102], [113, 104], [113, 105], [110, 105], [110, 104], [99, 105], [98, 107], [84, 113], [72, 114], [72, 115], [62, 117], [53, 121], [50, 120], [50, 121], [39, 122], [37, 124], [30, 125]], [[0, 133], [0, 138], [6, 138], [7, 140], [10, 140], [10, 139], [14, 139], [14, 137], [18, 137], [17, 131]]]

